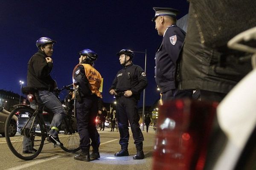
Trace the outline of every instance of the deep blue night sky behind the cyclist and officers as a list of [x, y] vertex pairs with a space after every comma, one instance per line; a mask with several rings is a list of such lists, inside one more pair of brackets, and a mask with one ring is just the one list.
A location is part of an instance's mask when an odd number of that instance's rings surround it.
[[[188, 13], [186, 0], [2, 0], [0, 1], [0, 89], [20, 93], [19, 80], [26, 85], [27, 62], [38, 51], [40, 37], [56, 40], [51, 76], [58, 87], [72, 83], [78, 52], [89, 48], [99, 54], [95, 68], [104, 78], [103, 101], [113, 102], [108, 94], [114, 77], [122, 67], [116, 52], [147, 49], [146, 105], [160, 98], [154, 81], [154, 53], [162, 37], [151, 21], [153, 7]], [[145, 68], [145, 54], [136, 53], [134, 64]], [[139, 105], [142, 105], [141, 98]]]

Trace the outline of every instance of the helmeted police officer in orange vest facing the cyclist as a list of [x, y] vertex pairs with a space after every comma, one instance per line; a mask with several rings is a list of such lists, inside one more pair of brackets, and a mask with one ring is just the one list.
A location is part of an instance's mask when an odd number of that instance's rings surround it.
[[[79, 56], [79, 64], [76, 65], [73, 71], [73, 83], [77, 89], [76, 115], [81, 153], [76, 155], [74, 159], [90, 161], [90, 158], [98, 159], [100, 157], [100, 140], [95, 119], [97, 112], [102, 108], [102, 95], [99, 92], [102, 77], [93, 68], [93, 62], [96, 61], [98, 54], [89, 49], [84, 49], [79, 52]], [[91, 155], [89, 154], [90, 146], [93, 147]]]

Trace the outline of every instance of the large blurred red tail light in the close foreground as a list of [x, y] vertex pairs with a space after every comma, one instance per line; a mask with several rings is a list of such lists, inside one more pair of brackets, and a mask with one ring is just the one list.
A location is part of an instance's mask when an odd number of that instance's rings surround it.
[[203, 170], [216, 107], [190, 100], [161, 106], [153, 170]]

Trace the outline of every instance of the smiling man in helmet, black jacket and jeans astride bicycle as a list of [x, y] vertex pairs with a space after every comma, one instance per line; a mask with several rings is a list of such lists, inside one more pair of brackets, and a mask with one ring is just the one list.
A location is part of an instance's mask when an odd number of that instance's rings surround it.
[[[36, 41], [38, 52], [29, 59], [27, 85], [38, 90], [38, 92], [35, 93], [35, 97], [38, 102], [39, 111], [42, 111], [43, 106], [45, 105], [54, 113], [50, 130], [48, 131], [47, 141], [61, 145], [61, 142], [58, 139], [58, 128], [60, 127], [66, 112], [59, 99], [52, 93], [54, 88], [56, 88], [56, 82], [50, 76], [53, 67], [51, 57], [53, 53], [53, 45], [55, 43], [56, 41], [51, 40], [48, 37], [41, 37]], [[23, 146], [23, 153], [35, 152], [34, 148], [31, 148], [28, 142], [23, 143], [27, 143]]]

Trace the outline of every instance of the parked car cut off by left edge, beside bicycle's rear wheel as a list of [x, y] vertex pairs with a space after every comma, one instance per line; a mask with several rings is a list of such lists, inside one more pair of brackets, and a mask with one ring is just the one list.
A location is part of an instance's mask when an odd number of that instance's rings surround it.
[[[0, 134], [2, 136], [5, 136], [4, 135], [4, 126], [5, 126], [5, 123], [6, 123], [6, 119], [7, 117], [9, 116], [10, 112], [9, 111], [6, 111], [2, 106], [0, 106]], [[12, 122], [9, 126], [9, 132], [10, 132], [10, 136], [15, 136], [16, 132], [17, 132], [17, 121], [18, 121], [18, 118], [16, 116], [13, 116], [12, 117]]]

